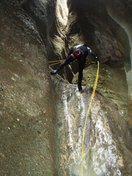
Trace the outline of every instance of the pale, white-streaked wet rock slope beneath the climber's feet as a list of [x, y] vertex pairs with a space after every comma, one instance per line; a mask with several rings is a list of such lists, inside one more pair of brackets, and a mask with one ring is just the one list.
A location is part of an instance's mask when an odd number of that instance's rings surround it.
[[[131, 175], [131, 136], [127, 121], [124, 70], [101, 65], [99, 83], [89, 114], [82, 161], [82, 134], [97, 65], [84, 70], [83, 93], [76, 86], [55, 81], [58, 175]], [[91, 71], [92, 70], [92, 71]], [[116, 77], [114, 77], [116, 75]], [[88, 82], [86, 82], [88, 81]], [[112, 84], [114, 81], [115, 84]], [[117, 84], [116, 84], [117, 83]], [[60, 152], [61, 151], [61, 152]]]

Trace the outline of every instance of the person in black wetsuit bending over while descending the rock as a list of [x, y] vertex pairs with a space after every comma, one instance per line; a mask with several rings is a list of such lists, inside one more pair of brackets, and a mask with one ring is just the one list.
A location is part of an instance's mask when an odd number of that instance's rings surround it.
[[61, 65], [59, 65], [59, 67], [56, 70], [50, 72], [51, 75], [55, 75], [66, 65], [77, 59], [79, 65], [78, 89], [79, 91], [82, 91], [83, 69], [85, 66], [86, 57], [88, 55], [91, 55], [96, 61], [98, 60], [97, 55], [86, 44], [74, 46], [73, 48], [70, 49], [66, 60]]

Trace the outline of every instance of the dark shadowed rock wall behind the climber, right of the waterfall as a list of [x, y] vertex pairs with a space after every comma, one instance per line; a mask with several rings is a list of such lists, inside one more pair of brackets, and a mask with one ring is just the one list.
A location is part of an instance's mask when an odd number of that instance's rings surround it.
[[[77, 14], [84, 41], [94, 48], [102, 62], [106, 60], [123, 62], [128, 56], [130, 57], [128, 38], [121, 27], [108, 15], [103, 2], [72, 1], [71, 9]], [[127, 43], [127, 47], [124, 46], [124, 42], [125, 45]], [[129, 54], [126, 56], [127, 52]]]

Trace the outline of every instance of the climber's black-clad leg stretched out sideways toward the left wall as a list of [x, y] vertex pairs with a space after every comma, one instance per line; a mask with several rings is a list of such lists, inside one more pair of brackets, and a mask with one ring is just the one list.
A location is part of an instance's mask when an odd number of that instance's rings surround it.
[[75, 58], [73, 58], [72, 56], [69, 56], [61, 65], [59, 65], [59, 67], [56, 70], [51, 71], [50, 73], [56, 74], [58, 73], [60, 70], [62, 70], [66, 65], [68, 65], [69, 63], [73, 62], [75, 60]]

